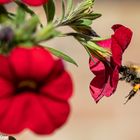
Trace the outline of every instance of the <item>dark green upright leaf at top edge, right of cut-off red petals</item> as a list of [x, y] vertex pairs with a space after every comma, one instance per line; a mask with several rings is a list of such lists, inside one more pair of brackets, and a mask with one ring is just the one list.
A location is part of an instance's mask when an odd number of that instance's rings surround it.
[[53, 0], [49, 0], [47, 4], [43, 5], [47, 22], [52, 22], [55, 16], [55, 4]]

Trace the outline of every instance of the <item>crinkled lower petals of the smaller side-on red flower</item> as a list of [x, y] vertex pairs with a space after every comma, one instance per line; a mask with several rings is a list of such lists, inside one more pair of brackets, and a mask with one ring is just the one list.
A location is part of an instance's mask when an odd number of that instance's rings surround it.
[[90, 92], [96, 103], [103, 97], [112, 94], [113, 87], [110, 82], [110, 68], [96, 58], [90, 60], [90, 69], [96, 75], [90, 83]]

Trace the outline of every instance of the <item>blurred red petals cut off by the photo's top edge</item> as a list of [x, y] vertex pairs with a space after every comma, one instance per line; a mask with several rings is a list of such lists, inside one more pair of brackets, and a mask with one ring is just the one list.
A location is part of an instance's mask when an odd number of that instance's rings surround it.
[[[48, 2], [48, 0], [21, 0], [23, 3], [29, 6], [41, 6]], [[0, 4], [6, 4], [12, 2], [12, 0], [0, 0]]]

